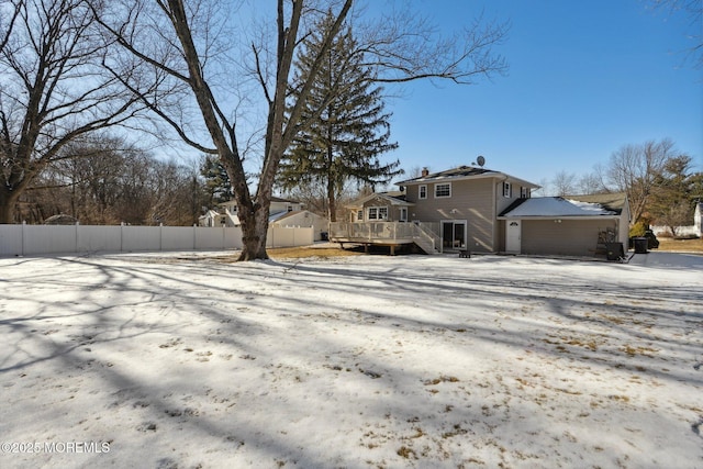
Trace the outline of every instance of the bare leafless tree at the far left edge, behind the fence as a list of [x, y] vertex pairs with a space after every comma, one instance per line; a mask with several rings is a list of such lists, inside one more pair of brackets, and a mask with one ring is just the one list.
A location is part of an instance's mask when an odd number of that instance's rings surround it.
[[122, 123], [132, 100], [101, 74], [105, 44], [87, 0], [0, 4], [0, 223], [69, 142]]

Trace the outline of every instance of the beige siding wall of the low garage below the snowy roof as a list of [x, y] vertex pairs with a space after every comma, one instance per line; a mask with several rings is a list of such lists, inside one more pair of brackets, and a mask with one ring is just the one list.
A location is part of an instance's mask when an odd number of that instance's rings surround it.
[[[521, 253], [593, 257], [599, 233], [616, 230], [613, 219], [603, 220], [525, 220], [522, 221]], [[625, 246], [627, 248], [627, 246]]]

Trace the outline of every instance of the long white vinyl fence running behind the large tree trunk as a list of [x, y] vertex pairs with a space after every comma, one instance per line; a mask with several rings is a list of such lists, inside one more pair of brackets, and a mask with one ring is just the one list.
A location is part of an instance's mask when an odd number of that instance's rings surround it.
[[[271, 226], [267, 247], [313, 244], [313, 228]], [[241, 249], [239, 227], [0, 225], [0, 257], [64, 253]]]

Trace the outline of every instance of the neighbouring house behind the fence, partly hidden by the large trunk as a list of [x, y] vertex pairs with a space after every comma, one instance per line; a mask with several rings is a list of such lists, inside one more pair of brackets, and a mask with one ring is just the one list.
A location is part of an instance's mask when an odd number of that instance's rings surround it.
[[[278, 197], [271, 198], [269, 210], [269, 225], [283, 227], [313, 227], [315, 241], [322, 238], [327, 231], [327, 220], [313, 212], [304, 210], [301, 202]], [[200, 226], [239, 226], [237, 203], [234, 200], [217, 204], [216, 210], [209, 210], [199, 219]]]

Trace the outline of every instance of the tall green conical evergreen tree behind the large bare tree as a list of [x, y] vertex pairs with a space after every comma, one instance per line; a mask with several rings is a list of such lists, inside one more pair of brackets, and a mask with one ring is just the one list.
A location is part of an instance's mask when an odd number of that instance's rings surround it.
[[[300, 93], [325, 31], [334, 23], [327, 14], [317, 33], [304, 41], [297, 56], [297, 74], [290, 93]], [[297, 134], [280, 164], [279, 185], [292, 189], [303, 185], [326, 186], [330, 221], [336, 221], [336, 199], [349, 180], [375, 187], [402, 174], [400, 161], [382, 164], [379, 155], [395, 149], [389, 143], [390, 113], [383, 112], [383, 89], [373, 86], [373, 70], [354, 54], [356, 42], [347, 27], [334, 41], [302, 115], [311, 125]]]

